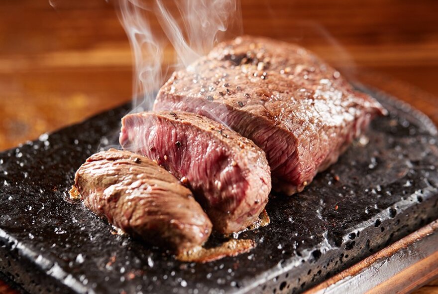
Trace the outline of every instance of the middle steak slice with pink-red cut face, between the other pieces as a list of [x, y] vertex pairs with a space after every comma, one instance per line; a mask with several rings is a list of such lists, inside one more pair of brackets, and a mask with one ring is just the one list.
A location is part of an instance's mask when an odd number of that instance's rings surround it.
[[183, 112], [130, 114], [122, 119], [120, 144], [180, 178], [220, 233], [251, 225], [268, 201], [271, 177], [263, 150], [206, 117]]

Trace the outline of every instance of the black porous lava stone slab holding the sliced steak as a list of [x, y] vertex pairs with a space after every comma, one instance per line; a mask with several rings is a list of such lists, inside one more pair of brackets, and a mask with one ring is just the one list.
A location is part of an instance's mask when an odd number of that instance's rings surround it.
[[[249, 253], [183, 263], [68, 198], [76, 169], [116, 145], [129, 105], [0, 153], [0, 271], [30, 293], [297, 293], [438, 217], [437, 129], [365, 89], [390, 112], [292, 197], [271, 224], [240, 234]], [[213, 238], [219, 242], [218, 236]]]

